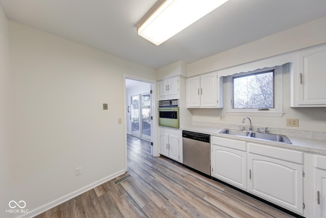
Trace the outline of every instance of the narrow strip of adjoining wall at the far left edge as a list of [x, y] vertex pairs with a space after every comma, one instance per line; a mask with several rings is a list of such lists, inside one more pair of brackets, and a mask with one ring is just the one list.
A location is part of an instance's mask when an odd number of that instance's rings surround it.
[[8, 19], [0, 6], [0, 216], [11, 217], [6, 213], [8, 203], [14, 199], [12, 188], [12, 128], [11, 118], [11, 78], [9, 56]]

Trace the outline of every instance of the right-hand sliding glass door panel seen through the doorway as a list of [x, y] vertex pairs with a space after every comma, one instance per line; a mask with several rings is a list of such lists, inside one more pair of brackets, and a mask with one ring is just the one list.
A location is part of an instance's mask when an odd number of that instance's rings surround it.
[[151, 139], [151, 95], [141, 94], [142, 138]]

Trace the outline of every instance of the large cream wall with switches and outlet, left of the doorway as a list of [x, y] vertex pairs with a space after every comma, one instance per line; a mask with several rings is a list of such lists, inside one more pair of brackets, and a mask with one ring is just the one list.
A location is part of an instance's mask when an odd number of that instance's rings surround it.
[[9, 32], [17, 199], [32, 210], [124, 172], [123, 74], [155, 70], [13, 21]]

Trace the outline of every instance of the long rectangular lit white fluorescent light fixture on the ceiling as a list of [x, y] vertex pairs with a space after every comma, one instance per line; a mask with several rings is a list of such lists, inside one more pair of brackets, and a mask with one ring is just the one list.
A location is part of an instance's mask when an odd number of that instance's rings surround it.
[[228, 0], [166, 0], [138, 28], [138, 35], [159, 45]]

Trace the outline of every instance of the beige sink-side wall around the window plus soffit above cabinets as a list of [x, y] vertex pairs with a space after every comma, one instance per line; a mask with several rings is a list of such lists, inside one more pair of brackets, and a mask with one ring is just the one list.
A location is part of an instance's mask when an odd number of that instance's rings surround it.
[[[190, 63], [187, 65], [188, 77], [326, 43], [325, 36], [326, 17], [322, 17], [301, 26]], [[284, 75], [283, 83], [283, 108], [285, 112], [283, 117], [251, 116], [253, 125], [326, 132], [325, 108], [290, 108], [289, 74]], [[229, 91], [224, 87], [224, 93]], [[243, 125], [241, 121], [244, 115], [228, 115], [226, 113], [226, 104], [228, 103], [229, 100], [226, 99], [226, 94], [224, 94], [223, 109], [191, 109], [193, 121]], [[220, 122], [220, 115], [225, 116], [225, 122]], [[298, 118], [299, 127], [287, 127], [286, 118]]]

